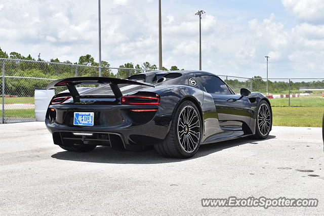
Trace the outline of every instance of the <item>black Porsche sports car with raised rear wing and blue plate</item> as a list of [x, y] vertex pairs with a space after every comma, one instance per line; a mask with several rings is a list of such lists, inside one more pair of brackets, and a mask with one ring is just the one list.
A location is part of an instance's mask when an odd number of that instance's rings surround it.
[[[96, 87], [76, 88], [76, 85]], [[99, 87], [97, 87], [99, 85]], [[199, 145], [268, 137], [269, 100], [204, 71], [151, 71], [127, 79], [72, 77], [48, 84], [67, 87], [46, 114], [54, 144], [68, 151], [111, 146], [139, 151], [154, 146], [166, 157], [188, 158]]]

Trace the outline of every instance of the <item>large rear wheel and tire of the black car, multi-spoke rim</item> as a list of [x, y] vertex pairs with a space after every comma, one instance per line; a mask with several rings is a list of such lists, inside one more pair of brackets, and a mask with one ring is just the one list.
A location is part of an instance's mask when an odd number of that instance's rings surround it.
[[164, 157], [190, 158], [198, 151], [201, 132], [198, 108], [193, 102], [184, 101], [174, 111], [166, 139], [154, 148]]

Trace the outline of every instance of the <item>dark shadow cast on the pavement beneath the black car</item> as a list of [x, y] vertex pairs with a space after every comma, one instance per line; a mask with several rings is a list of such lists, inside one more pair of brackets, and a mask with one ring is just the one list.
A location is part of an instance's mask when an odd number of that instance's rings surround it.
[[[269, 135], [266, 140], [275, 139], [275, 136]], [[118, 151], [113, 150], [110, 147], [99, 146], [91, 152], [68, 152], [61, 151], [52, 155], [52, 158], [59, 160], [81, 161], [81, 162], [93, 162], [93, 163], [131, 163], [131, 164], [154, 164], [154, 163], [174, 163], [184, 160], [192, 160], [199, 157], [204, 157], [209, 154], [222, 151], [234, 146], [240, 146], [245, 144], [259, 144], [262, 140], [255, 140], [252, 138], [242, 138], [229, 140], [219, 143], [213, 143], [209, 145], [203, 145], [199, 147], [198, 152], [188, 159], [178, 158], [165, 158], [158, 155], [154, 150], [147, 150], [142, 152], [132, 151]], [[59, 148], [59, 147], [58, 147]]]

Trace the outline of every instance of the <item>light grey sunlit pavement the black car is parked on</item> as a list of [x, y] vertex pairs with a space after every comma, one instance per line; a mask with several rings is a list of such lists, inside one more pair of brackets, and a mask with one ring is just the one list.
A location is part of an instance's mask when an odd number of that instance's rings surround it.
[[[44, 122], [0, 124], [0, 214], [324, 215], [321, 128], [274, 126], [266, 140], [154, 150], [67, 152]], [[317, 198], [317, 207], [202, 207], [202, 198]]]

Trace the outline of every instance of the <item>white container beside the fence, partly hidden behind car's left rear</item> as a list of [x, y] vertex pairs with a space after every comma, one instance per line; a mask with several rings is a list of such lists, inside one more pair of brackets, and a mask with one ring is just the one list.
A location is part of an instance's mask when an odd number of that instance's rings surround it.
[[55, 95], [54, 89], [35, 89], [35, 117], [36, 121], [45, 121], [45, 115], [51, 99]]

